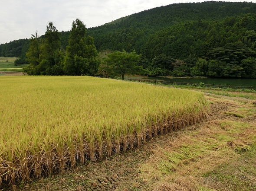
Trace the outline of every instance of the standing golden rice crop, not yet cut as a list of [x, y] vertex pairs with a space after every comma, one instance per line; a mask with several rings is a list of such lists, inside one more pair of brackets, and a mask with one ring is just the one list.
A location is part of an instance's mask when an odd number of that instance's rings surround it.
[[0, 187], [110, 157], [208, 117], [201, 92], [89, 76], [0, 76]]

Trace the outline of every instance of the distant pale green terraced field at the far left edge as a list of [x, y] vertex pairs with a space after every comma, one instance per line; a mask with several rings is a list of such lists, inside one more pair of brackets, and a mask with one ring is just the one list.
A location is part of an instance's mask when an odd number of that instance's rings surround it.
[[0, 57], [0, 71], [22, 72], [22, 68], [27, 66], [28, 64], [14, 66], [14, 61], [17, 59], [17, 57]]

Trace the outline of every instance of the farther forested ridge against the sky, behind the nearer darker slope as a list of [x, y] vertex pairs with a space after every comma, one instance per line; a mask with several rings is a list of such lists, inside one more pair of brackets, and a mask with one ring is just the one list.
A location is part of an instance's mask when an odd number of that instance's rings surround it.
[[[222, 20], [228, 16], [242, 16], [246, 13], [256, 13], [256, 3], [211, 1], [171, 4], [90, 28], [88, 34], [94, 37], [98, 51], [105, 49], [131, 51], [135, 49], [138, 53], [142, 53], [148, 36], [164, 27], [185, 21]], [[68, 44], [68, 37], [69, 32], [61, 32], [63, 48]], [[2, 44], [0, 45], [0, 56], [20, 57], [27, 49], [27, 44], [27, 39]]]

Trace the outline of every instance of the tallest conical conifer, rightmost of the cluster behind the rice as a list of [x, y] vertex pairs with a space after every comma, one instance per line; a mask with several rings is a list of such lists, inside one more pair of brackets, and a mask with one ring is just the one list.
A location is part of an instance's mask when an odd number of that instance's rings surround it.
[[69, 45], [66, 48], [64, 70], [67, 75], [92, 76], [98, 71], [98, 52], [94, 39], [86, 36], [85, 24], [80, 19], [75, 19], [69, 36]]

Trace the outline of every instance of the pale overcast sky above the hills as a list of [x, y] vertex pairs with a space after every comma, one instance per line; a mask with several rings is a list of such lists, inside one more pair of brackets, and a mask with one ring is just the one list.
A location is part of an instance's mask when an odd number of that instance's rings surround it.
[[49, 21], [68, 31], [76, 18], [90, 28], [162, 5], [202, 1], [208, 0], [0, 0], [0, 44], [30, 38], [36, 31], [43, 35]]

